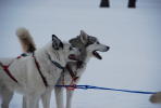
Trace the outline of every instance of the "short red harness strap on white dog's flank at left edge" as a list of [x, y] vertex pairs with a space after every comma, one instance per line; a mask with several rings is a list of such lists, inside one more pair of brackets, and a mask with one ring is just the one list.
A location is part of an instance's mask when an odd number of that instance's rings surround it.
[[0, 63], [0, 66], [3, 68], [3, 70], [5, 71], [5, 73], [7, 73], [14, 82], [18, 83], [17, 80], [12, 76], [12, 73], [11, 73], [10, 70], [9, 70], [10, 65], [3, 65], [2, 63]]

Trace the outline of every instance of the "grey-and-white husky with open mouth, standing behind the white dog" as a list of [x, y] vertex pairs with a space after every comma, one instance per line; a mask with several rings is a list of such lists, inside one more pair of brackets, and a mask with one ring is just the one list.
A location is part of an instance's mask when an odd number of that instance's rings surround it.
[[[81, 35], [76, 38], [70, 40], [72, 46], [79, 49], [81, 56], [79, 59], [82, 62], [79, 64], [69, 62], [67, 65], [71, 69], [66, 68], [65, 72], [62, 72], [61, 78], [59, 79], [57, 84], [76, 84], [81, 79], [82, 73], [85, 71], [88, 60], [94, 56], [98, 59], [102, 59], [99, 55], [99, 52], [107, 52], [110, 48], [101, 44], [96, 37], [87, 35], [85, 31], [81, 30]], [[70, 72], [73, 71], [73, 75]], [[74, 81], [74, 82], [73, 82]], [[57, 108], [64, 108], [63, 106], [63, 87], [55, 86], [55, 99], [57, 99]], [[72, 96], [73, 92], [66, 89], [66, 107], [71, 108], [72, 105]]]

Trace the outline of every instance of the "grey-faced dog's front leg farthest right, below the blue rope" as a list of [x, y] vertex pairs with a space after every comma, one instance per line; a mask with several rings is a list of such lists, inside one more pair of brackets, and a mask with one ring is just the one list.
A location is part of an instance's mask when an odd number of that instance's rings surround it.
[[74, 91], [66, 90], [66, 108], [72, 108], [72, 98]]

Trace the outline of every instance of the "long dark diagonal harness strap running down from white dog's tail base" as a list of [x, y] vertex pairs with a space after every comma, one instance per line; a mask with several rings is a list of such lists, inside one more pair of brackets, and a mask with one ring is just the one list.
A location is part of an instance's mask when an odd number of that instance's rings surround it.
[[45, 86], [47, 87], [47, 86], [48, 86], [48, 82], [47, 82], [45, 76], [42, 75], [42, 72], [41, 72], [41, 70], [40, 70], [40, 65], [39, 65], [39, 63], [38, 63], [37, 59], [36, 59], [35, 53], [33, 53], [33, 58], [34, 58], [35, 65], [36, 65], [36, 67], [37, 67], [37, 70], [38, 70], [38, 72], [39, 72], [39, 75], [40, 75], [40, 77], [41, 77], [41, 79], [42, 79], [42, 81], [44, 81], [44, 84], [45, 84]]

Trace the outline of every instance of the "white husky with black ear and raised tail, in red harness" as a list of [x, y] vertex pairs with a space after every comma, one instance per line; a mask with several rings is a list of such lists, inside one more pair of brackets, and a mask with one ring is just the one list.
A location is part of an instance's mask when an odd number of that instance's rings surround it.
[[[17, 36], [29, 37], [26, 29], [17, 31]], [[29, 41], [32, 38], [29, 39]], [[27, 52], [35, 51], [35, 45], [26, 48]], [[36, 50], [26, 57], [0, 59], [0, 96], [1, 108], [9, 108], [13, 92], [24, 95], [25, 107], [36, 108], [42, 99], [44, 108], [49, 108], [50, 95], [67, 62], [77, 60], [79, 52], [70, 43], [62, 42], [52, 36], [52, 42]], [[7, 67], [8, 65], [8, 67]]]

